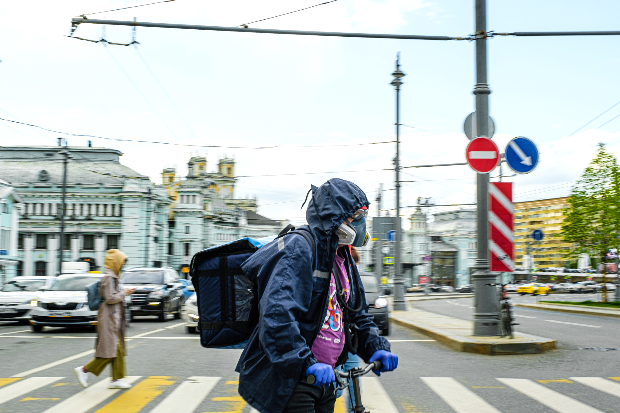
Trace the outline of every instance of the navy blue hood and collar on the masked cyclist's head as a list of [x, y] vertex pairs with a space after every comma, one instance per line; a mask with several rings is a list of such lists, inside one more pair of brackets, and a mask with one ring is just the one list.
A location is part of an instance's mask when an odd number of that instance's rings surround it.
[[369, 206], [364, 191], [351, 181], [332, 178], [318, 188], [312, 185], [312, 199], [306, 209], [308, 229], [317, 245], [317, 270], [331, 271], [338, 248], [337, 228], [353, 212]]

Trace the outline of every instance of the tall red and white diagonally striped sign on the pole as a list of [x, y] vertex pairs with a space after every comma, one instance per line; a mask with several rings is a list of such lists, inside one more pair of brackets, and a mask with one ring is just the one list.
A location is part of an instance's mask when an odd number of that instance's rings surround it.
[[511, 182], [489, 182], [489, 271], [515, 269]]

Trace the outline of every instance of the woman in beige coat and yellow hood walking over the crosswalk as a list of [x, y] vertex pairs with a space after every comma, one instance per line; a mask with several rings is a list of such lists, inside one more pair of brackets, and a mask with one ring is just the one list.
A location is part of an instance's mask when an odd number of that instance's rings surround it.
[[125, 377], [125, 296], [136, 289], [118, 289], [118, 276], [127, 256], [121, 250], [108, 250], [105, 255], [105, 276], [101, 280], [101, 306], [97, 313], [95, 358], [74, 371], [82, 387], [88, 386], [88, 373], [99, 376], [112, 364], [112, 381], [108, 389], [128, 389]]

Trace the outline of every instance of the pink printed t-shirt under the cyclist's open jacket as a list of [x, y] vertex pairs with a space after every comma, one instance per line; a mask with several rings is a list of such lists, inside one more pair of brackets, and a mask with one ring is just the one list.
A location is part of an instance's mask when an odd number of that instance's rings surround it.
[[[336, 267], [338, 269], [338, 277], [340, 284], [345, 293], [345, 302], [348, 302], [351, 295], [349, 282], [347, 277], [347, 269], [345, 268], [345, 259], [336, 254]], [[312, 344], [312, 352], [319, 363], [330, 364], [335, 367], [338, 357], [342, 354], [345, 346], [345, 331], [342, 323], [342, 309], [336, 299], [336, 282], [334, 273], [332, 272], [329, 280], [329, 305], [327, 305], [327, 314], [325, 321], [321, 327], [321, 331], [317, 334]]]

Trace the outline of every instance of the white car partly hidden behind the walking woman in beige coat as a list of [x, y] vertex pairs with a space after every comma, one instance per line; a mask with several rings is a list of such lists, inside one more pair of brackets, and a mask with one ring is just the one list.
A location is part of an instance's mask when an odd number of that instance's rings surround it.
[[63, 274], [30, 304], [30, 324], [37, 333], [44, 326], [94, 327], [97, 311], [87, 305], [86, 285], [100, 281], [103, 274]]

